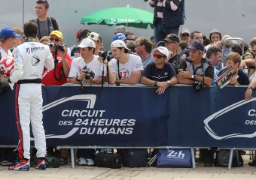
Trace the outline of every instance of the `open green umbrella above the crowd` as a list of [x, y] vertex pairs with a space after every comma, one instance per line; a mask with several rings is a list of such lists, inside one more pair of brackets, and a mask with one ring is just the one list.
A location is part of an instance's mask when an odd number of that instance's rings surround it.
[[90, 13], [81, 24], [123, 25], [136, 28], [153, 28], [153, 13], [133, 7], [112, 7]]

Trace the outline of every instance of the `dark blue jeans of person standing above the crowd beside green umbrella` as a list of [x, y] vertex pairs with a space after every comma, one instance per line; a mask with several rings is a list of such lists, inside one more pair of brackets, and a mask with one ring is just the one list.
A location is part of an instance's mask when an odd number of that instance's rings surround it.
[[179, 26], [175, 26], [172, 28], [163, 28], [163, 20], [157, 18], [157, 21], [154, 25], [154, 38], [156, 43], [162, 41], [166, 38], [168, 34], [177, 34], [178, 35]]

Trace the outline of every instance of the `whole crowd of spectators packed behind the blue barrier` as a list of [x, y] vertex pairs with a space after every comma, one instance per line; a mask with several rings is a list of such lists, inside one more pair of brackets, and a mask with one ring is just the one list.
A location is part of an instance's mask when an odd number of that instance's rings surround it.
[[[169, 2], [169, 1], [168, 1]], [[80, 84], [121, 84], [157, 87], [156, 93], [162, 95], [166, 89], [176, 84], [193, 85], [194, 89], [217, 86], [215, 80], [232, 67], [236, 75], [230, 78], [231, 86], [248, 86], [245, 99], [251, 98], [256, 88], [255, 53], [256, 37], [251, 37], [249, 46], [233, 39], [228, 34], [213, 29], [209, 37], [196, 29], [180, 28], [184, 23], [184, 12], [178, 11], [178, 19], [165, 19], [172, 16], [177, 8], [184, 10], [184, 1], [173, 1], [163, 5], [162, 1], [150, 1], [154, 7], [154, 36], [138, 37], [136, 32], [127, 31], [125, 26], [117, 26], [113, 31], [110, 51], [105, 51], [104, 40], [100, 31], [79, 29], [75, 34], [77, 40], [73, 46], [66, 46], [65, 37], [59, 24], [52, 17], [47, 17], [47, 1], [36, 1], [37, 18], [31, 20], [38, 26], [36, 42], [49, 46], [54, 68], [47, 69], [41, 75], [44, 86], [61, 86], [65, 83]], [[163, 10], [158, 7], [163, 6]], [[168, 7], [169, 6], [169, 7]], [[171, 8], [166, 11], [165, 8]], [[163, 19], [163, 20], [161, 20]], [[176, 24], [175, 24], [176, 23]], [[168, 30], [168, 31], [167, 31]], [[30, 42], [20, 28], [5, 27], [0, 31], [1, 58], [13, 56], [12, 49]], [[15, 58], [15, 57], [14, 57]], [[1, 83], [7, 86], [8, 77], [2, 75]], [[10, 166], [13, 149], [0, 149], [0, 165]], [[48, 153], [54, 154], [54, 148], [48, 147]], [[214, 164], [214, 150], [203, 149], [205, 166]], [[61, 162], [68, 162], [66, 149], [59, 152]], [[91, 151], [79, 152], [79, 164], [87, 164], [86, 158], [92, 157]], [[89, 154], [87, 157], [84, 154]], [[26, 157], [29, 158], [29, 157]], [[252, 165], [256, 165], [254, 160]]]

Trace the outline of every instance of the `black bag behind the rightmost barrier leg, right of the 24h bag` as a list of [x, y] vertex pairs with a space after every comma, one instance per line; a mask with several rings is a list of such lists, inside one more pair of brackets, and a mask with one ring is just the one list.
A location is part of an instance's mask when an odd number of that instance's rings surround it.
[[[232, 166], [243, 166], [243, 159], [242, 159], [242, 155], [241, 155], [241, 151], [237, 151], [238, 154], [238, 161], [236, 160], [236, 151], [233, 151], [233, 158], [232, 158]], [[223, 167], [227, 167], [228, 166], [228, 162], [230, 160], [230, 150], [224, 150], [221, 149], [219, 151], [217, 151], [216, 154], [216, 165], [217, 166], [223, 166]]]

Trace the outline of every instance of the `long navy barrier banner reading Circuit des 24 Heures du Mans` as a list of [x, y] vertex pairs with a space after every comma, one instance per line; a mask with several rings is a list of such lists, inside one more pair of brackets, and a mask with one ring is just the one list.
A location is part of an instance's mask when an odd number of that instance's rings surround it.
[[[218, 147], [230, 148], [231, 156], [235, 148], [256, 148], [256, 98], [244, 100], [246, 87], [196, 92], [191, 86], [174, 86], [163, 95], [156, 90], [43, 86], [47, 145], [71, 148], [72, 157], [76, 147]], [[0, 101], [0, 145], [17, 145], [14, 92]]]

